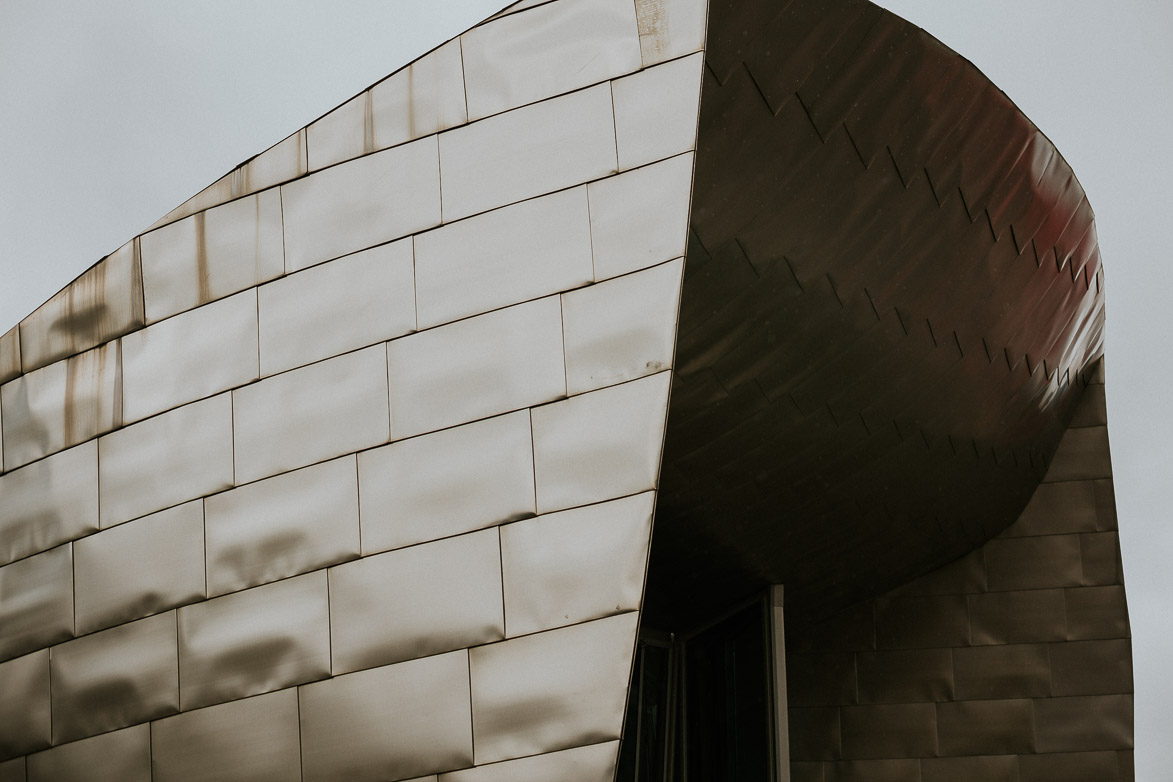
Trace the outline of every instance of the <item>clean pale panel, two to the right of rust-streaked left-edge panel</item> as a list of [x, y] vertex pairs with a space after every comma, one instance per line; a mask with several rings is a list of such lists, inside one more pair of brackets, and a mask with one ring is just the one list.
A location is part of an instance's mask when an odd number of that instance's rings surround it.
[[260, 372], [328, 359], [415, 329], [412, 240], [372, 247], [260, 288]]

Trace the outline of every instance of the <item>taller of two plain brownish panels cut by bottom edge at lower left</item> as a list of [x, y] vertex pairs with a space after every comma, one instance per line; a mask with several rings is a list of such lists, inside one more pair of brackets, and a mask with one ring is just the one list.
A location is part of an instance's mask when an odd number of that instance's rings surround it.
[[155, 782], [300, 782], [296, 689], [151, 725]]

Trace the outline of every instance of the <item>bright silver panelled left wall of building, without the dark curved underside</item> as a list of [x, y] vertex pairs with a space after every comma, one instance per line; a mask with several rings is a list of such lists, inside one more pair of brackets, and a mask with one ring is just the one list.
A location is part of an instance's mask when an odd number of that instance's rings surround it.
[[705, 13], [644, 5], [509, 9], [0, 338], [0, 780], [612, 778]]

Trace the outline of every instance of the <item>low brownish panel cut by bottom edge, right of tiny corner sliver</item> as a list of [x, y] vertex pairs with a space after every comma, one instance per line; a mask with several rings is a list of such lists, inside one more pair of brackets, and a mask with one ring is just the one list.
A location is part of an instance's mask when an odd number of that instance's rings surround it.
[[151, 782], [150, 726], [136, 725], [30, 755], [28, 782]]

